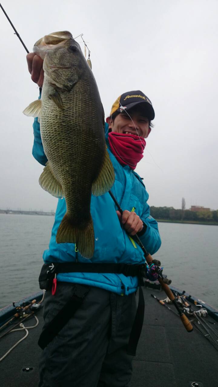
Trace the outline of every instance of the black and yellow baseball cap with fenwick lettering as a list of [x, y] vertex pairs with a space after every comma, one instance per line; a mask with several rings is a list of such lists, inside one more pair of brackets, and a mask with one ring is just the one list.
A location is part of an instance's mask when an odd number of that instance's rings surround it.
[[134, 90], [134, 91], [128, 91], [126, 93], [121, 94], [111, 108], [111, 113], [114, 114], [115, 112], [121, 113], [123, 110], [130, 110], [133, 108], [133, 106], [136, 106], [138, 104], [142, 104], [142, 107], [145, 110], [145, 115], [149, 119], [149, 121], [154, 120], [154, 109], [152, 106], [152, 103], [149, 98], [140, 90]]

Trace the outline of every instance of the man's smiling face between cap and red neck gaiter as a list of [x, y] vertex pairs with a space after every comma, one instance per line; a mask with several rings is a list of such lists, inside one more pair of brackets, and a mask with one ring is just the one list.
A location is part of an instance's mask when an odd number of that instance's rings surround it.
[[128, 114], [125, 111], [119, 113], [114, 120], [111, 120], [109, 129], [116, 133], [138, 134], [140, 137], [145, 139], [151, 131], [149, 128], [149, 120], [140, 107], [130, 109]]

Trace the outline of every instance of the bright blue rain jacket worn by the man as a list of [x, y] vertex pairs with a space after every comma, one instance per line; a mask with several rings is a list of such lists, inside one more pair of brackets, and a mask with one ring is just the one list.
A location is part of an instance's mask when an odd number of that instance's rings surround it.
[[[40, 164], [45, 165], [47, 157], [43, 150], [40, 124], [37, 118], [35, 118], [33, 123], [33, 132], [33, 157]], [[107, 151], [109, 152], [115, 172], [115, 182], [111, 192], [123, 210], [131, 211], [135, 207], [135, 212], [147, 226], [140, 240], [147, 251], [154, 254], [161, 245], [161, 239], [157, 222], [150, 215], [149, 205], [147, 204], [149, 195], [140, 176], [131, 170], [129, 166], [121, 166], [113, 156], [108, 142], [107, 123], [105, 123], [105, 132]], [[43, 253], [45, 263], [76, 261], [74, 243], [56, 243], [55, 241], [57, 230], [65, 213], [66, 201], [65, 199], [58, 199], [49, 249]], [[84, 262], [87, 265], [91, 265], [92, 262], [125, 264], [142, 264], [145, 262], [142, 249], [130, 240], [128, 234], [121, 226], [116, 214], [115, 204], [108, 192], [98, 197], [92, 195], [91, 215], [95, 233], [94, 255], [91, 259], [85, 259], [80, 253], [77, 253], [78, 262]], [[114, 273], [61, 273], [57, 275], [57, 281], [96, 286], [120, 295], [128, 295], [138, 288], [137, 277], [126, 277], [123, 274]]]

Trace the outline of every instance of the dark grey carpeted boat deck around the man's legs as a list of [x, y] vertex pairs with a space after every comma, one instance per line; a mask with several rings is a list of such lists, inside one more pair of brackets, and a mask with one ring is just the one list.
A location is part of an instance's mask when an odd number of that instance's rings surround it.
[[[191, 386], [190, 382], [201, 382], [199, 386], [217, 387], [218, 351], [195, 330], [186, 332], [180, 318], [151, 297], [152, 293], [164, 299], [166, 295], [163, 291], [144, 288], [143, 292], [144, 326], [137, 356], [133, 360], [133, 376], [129, 386], [188, 387]], [[173, 305], [170, 308], [175, 310]], [[29, 329], [28, 337], [0, 362], [2, 387], [38, 386], [38, 358], [42, 350], [37, 341], [43, 326], [42, 309], [36, 316], [39, 325]], [[207, 319], [211, 320], [210, 317]], [[32, 318], [25, 325], [35, 325], [35, 322]], [[23, 336], [24, 331], [3, 337], [0, 358]], [[23, 371], [27, 367], [33, 369]]]

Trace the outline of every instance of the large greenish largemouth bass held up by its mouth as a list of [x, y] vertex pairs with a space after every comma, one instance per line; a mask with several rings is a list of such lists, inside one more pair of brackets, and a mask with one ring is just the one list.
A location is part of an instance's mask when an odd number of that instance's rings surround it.
[[90, 259], [95, 245], [91, 195], [106, 194], [115, 178], [99, 90], [69, 31], [45, 35], [35, 43], [33, 52], [43, 59], [42, 96], [23, 113], [40, 122], [48, 161], [39, 183], [54, 197], [66, 200], [56, 242], [75, 243], [80, 254]]

